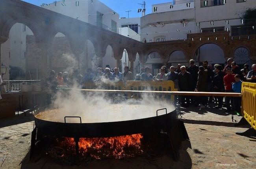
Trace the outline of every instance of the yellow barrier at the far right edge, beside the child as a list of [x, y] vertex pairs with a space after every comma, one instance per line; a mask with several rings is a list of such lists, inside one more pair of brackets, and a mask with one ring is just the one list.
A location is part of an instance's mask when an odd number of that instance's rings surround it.
[[242, 113], [247, 122], [256, 130], [256, 83], [242, 83]]

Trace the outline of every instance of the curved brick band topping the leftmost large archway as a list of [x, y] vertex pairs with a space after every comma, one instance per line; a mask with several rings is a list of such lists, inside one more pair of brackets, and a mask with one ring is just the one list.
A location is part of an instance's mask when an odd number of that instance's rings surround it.
[[32, 18], [23, 15], [10, 16], [2, 27], [2, 35], [9, 37], [11, 27], [13, 27], [13, 25], [16, 23], [21, 23], [28, 26], [33, 32], [37, 42], [42, 40], [44, 31], [40, 29], [40, 27], [33, 21]]

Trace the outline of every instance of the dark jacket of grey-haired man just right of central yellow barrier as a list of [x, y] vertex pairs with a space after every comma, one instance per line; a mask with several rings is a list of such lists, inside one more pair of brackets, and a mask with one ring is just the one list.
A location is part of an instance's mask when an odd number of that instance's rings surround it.
[[192, 76], [189, 72], [185, 72], [184, 75], [179, 73], [179, 87], [180, 91], [192, 91], [191, 81]]

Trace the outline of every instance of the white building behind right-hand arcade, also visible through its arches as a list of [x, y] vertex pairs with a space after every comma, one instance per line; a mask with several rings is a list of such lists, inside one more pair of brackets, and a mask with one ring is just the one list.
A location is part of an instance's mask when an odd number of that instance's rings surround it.
[[[230, 31], [231, 36], [237, 36], [243, 30], [244, 11], [255, 6], [256, 1], [253, 0], [174, 0], [154, 4], [152, 13], [141, 18], [141, 39], [147, 43], [186, 40], [189, 33], [217, 31]], [[235, 53], [230, 57], [238, 63], [249, 62], [246, 49], [239, 48]], [[168, 57], [168, 66], [178, 63], [188, 66], [182, 51], [174, 51]], [[197, 64], [204, 60], [208, 60], [209, 64], [225, 62], [223, 50], [215, 44], [199, 47], [194, 59]], [[153, 73], [157, 73], [162, 65], [158, 53], [151, 53], [145, 64], [153, 69]]]

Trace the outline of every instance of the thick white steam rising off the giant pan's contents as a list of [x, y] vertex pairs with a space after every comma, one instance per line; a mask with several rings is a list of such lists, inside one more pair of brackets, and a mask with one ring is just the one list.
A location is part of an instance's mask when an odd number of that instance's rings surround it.
[[[112, 82], [114, 83], [114, 82]], [[65, 116], [79, 116], [82, 123], [100, 123], [126, 121], [156, 116], [158, 109], [167, 108], [167, 112], [175, 108], [171, 100], [159, 100], [154, 94], [141, 94], [141, 98], [135, 99], [122, 93], [88, 92], [80, 89], [76, 83], [69, 91], [58, 91], [53, 101], [47, 120], [64, 122]], [[164, 114], [165, 111], [160, 111]], [[46, 116], [47, 117], [47, 116]], [[78, 123], [77, 118], [67, 122]]]

